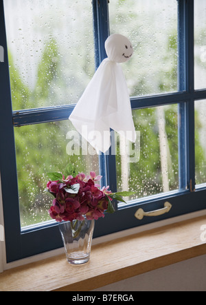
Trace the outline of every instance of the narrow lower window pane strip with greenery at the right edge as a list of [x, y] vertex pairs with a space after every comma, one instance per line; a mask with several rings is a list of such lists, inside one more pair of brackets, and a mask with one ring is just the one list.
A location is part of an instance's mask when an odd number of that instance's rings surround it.
[[206, 100], [195, 102], [196, 184], [206, 182]]

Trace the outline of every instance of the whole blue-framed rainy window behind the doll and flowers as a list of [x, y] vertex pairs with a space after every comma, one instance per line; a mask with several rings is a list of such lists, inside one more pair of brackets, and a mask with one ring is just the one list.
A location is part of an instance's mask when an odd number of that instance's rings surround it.
[[[137, 191], [95, 225], [94, 237], [205, 209], [203, 0], [0, 1], [0, 169], [7, 260], [62, 246], [47, 215], [47, 171], [100, 171], [113, 191]], [[58, 20], [58, 22], [56, 22]], [[161, 20], [161, 23], [159, 22]], [[135, 145], [112, 134], [108, 154], [68, 154], [68, 117], [106, 57], [109, 33], [130, 37], [122, 65]], [[113, 154], [113, 151], [116, 154]], [[75, 165], [75, 166], [74, 166]], [[170, 213], [137, 220], [135, 212]]]

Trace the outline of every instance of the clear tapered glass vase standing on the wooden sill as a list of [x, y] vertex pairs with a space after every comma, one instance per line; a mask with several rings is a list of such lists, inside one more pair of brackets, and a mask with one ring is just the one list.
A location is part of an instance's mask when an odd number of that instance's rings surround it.
[[84, 264], [89, 261], [94, 224], [94, 220], [87, 218], [59, 224], [65, 254], [70, 264]]

